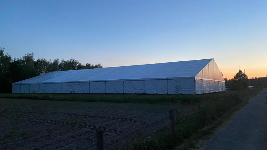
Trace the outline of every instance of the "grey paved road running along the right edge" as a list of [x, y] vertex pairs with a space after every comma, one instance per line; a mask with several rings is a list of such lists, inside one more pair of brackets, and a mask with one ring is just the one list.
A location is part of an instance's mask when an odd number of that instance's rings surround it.
[[204, 150], [267, 149], [267, 90], [250, 99], [249, 104], [225, 123], [205, 143]]

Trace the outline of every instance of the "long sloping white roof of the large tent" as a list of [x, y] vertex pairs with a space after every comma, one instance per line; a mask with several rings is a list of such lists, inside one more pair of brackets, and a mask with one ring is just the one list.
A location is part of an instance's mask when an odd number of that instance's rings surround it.
[[211, 59], [56, 71], [13, 84], [195, 78]]

